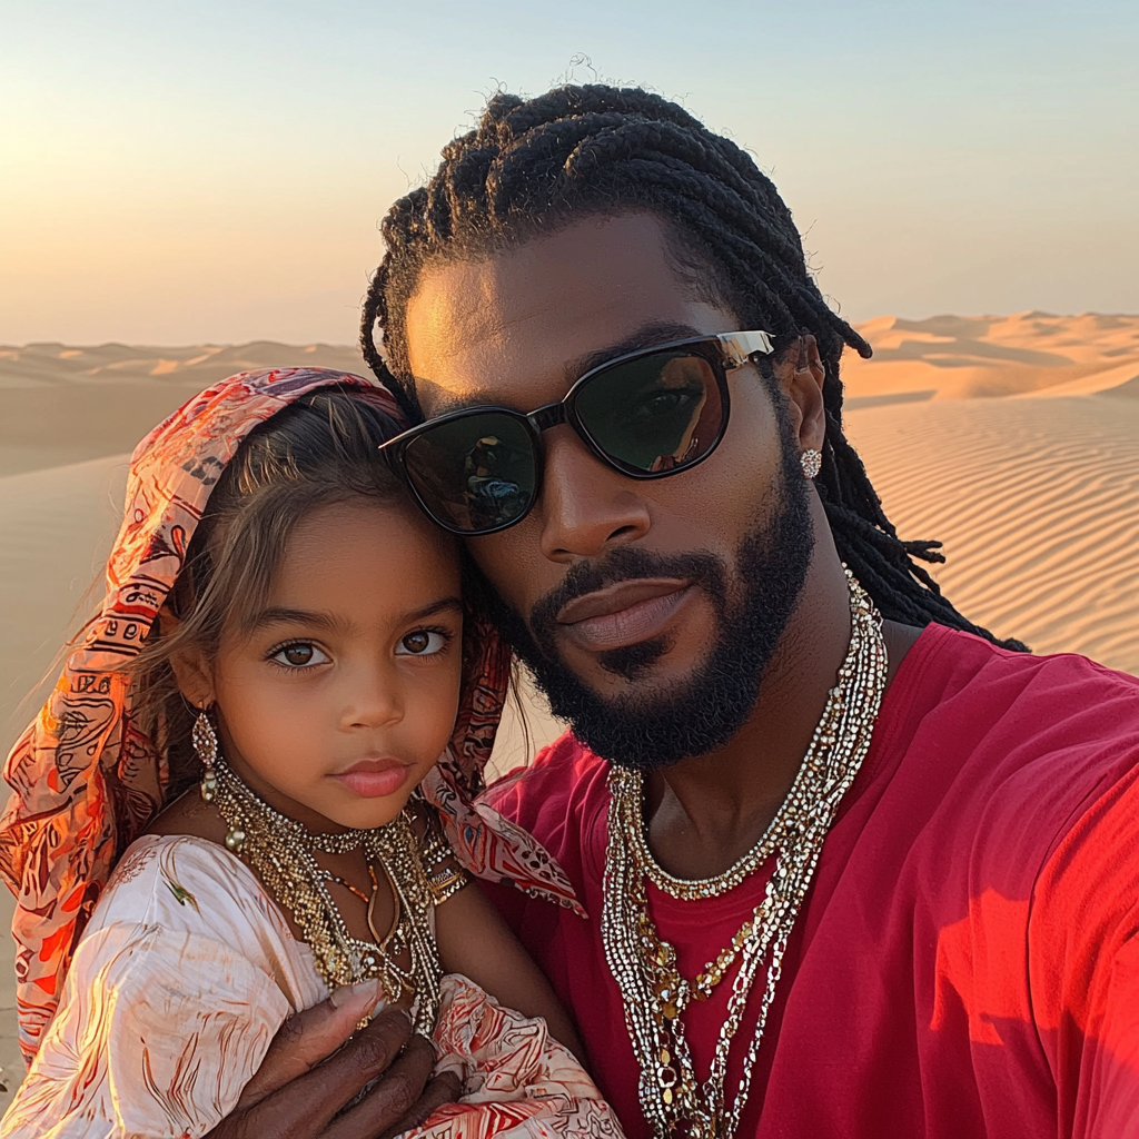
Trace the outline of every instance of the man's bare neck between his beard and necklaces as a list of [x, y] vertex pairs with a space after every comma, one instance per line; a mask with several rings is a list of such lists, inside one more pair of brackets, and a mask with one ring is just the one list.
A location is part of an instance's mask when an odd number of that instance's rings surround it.
[[[677, 877], [714, 877], [759, 842], [806, 754], [851, 638], [842, 564], [829, 541], [820, 547], [747, 722], [716, 752], [646, 780], [649, 844]], [[886, 622], [883, 632], [893, 677], [921, 631]]]

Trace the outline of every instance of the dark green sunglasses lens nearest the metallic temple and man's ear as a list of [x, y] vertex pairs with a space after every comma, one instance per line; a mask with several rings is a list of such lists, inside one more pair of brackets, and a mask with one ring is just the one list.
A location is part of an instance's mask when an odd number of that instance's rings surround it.
[[575, 410], [595, 444], [632, 474], [698, 462], [724, 427], [712, 364], [683, 351], [640, 357], [598, 372], [577, 391]]

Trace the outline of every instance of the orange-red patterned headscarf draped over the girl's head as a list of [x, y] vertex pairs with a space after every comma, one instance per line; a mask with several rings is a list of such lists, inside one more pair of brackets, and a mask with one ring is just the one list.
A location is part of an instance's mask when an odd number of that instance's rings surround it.
[[[293, 401], [329, 385], [358, 390], [359, 399], [401, 418], [391, 394], [371, 379], [326, 368], [251, 371], [196, 395], [134, 450], [103, 607], [3, 772], [14, 794], [0, 818], [0, 876], [17, 898], [17, 1007], [28, 1060], [55, 1014], [75, 943], [107, 877], [164, 804], [170, 772], [136, 722], [129, 666], [241, 440]], [[581, 912], [549, 854], [476, 802], [510, 656], [493, 626], [477, 617], [469, 617], [464, 637], [476, 663], [468, 670], [451, 744], [421, 789], [467, 869]]]

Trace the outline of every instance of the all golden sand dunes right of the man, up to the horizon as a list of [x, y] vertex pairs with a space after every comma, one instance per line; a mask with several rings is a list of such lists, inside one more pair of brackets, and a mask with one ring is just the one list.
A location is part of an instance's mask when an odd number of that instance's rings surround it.
[[1139, 672], [1139, 317], [880, 317], [847, 431], [970, 618]]

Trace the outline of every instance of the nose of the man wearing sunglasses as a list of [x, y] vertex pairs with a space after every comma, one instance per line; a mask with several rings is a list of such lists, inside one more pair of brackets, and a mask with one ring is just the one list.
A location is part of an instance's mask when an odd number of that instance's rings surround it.
[[640, 483], [607, 467], [570, 427], [546, 432], [542, 493], [535, 507], [551, 562], [598, 557], [644, 538], [652, 525]]

